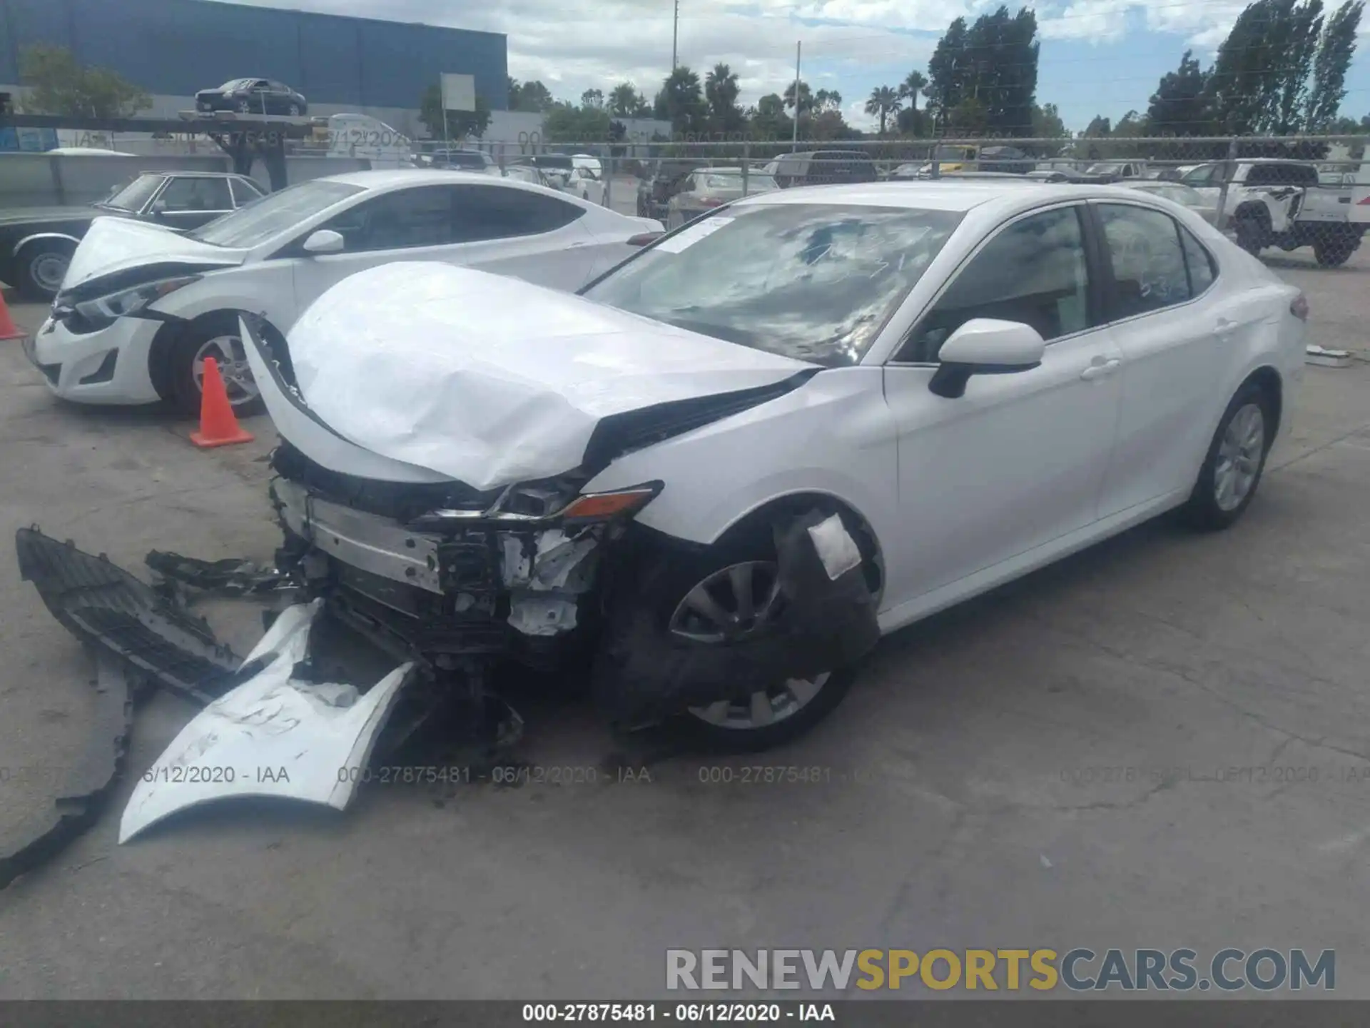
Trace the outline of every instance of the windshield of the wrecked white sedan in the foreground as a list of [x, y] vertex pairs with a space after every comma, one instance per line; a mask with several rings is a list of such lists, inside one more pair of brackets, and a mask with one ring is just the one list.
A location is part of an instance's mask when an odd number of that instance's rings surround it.
[[590, 300], [799, 360], [860, 360], [962, 215], [906, 207], [730, 208], [667, 236]]

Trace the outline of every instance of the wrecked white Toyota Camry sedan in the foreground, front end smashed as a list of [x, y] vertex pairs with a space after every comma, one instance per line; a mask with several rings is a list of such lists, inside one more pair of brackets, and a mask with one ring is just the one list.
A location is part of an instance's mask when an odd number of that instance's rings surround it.
[[882, 633], [1237, 521], [1307, 315], [1160, 197], [899, 182], [732, 203], [578, 296], [396, 263], [242, 336], [281, 566], [337, 618], [436, 668], [589, 661], [614, 722], [755, 750]]

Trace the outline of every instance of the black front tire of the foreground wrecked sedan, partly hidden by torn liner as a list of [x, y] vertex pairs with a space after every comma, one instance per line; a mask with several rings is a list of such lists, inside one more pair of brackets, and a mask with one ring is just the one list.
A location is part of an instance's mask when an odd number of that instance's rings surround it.
[[[749, 561], [775, 561], [775, 544], [769, 526], [725, 537], [700, 554], [659, 551], [645, 556], [632, 576], [632, 585], [610, 604], [596, 663], [603, 668], [606, 662], [621, 661], [625, 647], [640, 646], [644, 624], [648, 625], [647, 631], [656, 635], [653, 644], [660, 641], [673, 648], [718, 646], [671, 636], [671, 617], [696, 584], [717, 572]], [[599, 673], [595, 677], [600, 677]], [[821, 677], [815, 676], [814, 680]], [[852, 668], [833, 669], [818, 691], [797, 710], [766, 725], [726, 726], [706, 721], [696, 713], [681, 711], [664, 726], [693, 748], [714, 752], [760, 752], [797, 739], [827, 717], [851, 689], [854, 677]], [[784, 683], [777, 683], [775, 692], [782, 692], [782, 687]]]

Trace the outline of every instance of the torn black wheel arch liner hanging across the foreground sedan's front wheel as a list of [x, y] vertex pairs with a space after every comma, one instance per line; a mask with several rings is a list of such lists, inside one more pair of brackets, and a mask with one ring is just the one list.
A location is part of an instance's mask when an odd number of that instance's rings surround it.
[[[829, 511], [807, 510], [771, 522], [785, 606], [773, 631], [738, 643], [706, 644], [671, 636], [660, 618], [663, 562], [641, 559], [641, 574], [612, 603], [622, 629], [606, 639], [593, 672], [600, 707], [623, 726], [660, 721], [686, 707], [744, 699], [789, 678], [812, 678], [864, 657], [880, 641], [875, 600], [851, 528]], [[648, 543], [651, 546], [651, 543]]]

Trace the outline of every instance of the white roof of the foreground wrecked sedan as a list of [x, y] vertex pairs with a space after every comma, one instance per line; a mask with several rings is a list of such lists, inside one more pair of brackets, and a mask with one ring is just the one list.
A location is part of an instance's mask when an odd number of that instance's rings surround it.
[[1006, 212], [1030, 210], [1043, 203], [1091, 200], [1136, 195], [1111, 185], [1060, 182], [1043, 189], [1040, 181], [1014, 175], [986, 180], [933, 180], [918, 182], [860, 182], [852, 185], [814, 185], [758, 193], [737, 200], [737, 206], [784, 203], [830, 203], [858, 207], [908, 207], [930, 211], [970, 211], [995, 204]]

